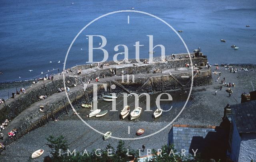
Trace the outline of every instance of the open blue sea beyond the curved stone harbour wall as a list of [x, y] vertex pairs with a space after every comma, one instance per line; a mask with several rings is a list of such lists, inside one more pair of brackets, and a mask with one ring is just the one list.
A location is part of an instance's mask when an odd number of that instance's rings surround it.
[[[119, 12], [99, 18], [114, 11]], [[94, 48], [93, 61], [134, 59], [139, 42], [140, 58], [149, 57], [149, 36], [153, 36], [154, 57], [186, 53], [200, 47], [210, 64], [255, 64], [255, 0], [0, 0], [0, 98], [8, 98], [24, 80], [40, 78], [66, 68], [87, 64], [89, 36]], [[246, 27], [250, 25], [250, 27]], [[100, 37], [100, 36], [101, 37]], [[106, 45], [102, 39], [106, 39]], [[221, 42], [225, 39], [226, 42]], [[231, 45], [239, 47], [238, 50]], [[103, 47], [104, 46], [104, 47]], [[12, 84], [20, 82], [21, 84]]]

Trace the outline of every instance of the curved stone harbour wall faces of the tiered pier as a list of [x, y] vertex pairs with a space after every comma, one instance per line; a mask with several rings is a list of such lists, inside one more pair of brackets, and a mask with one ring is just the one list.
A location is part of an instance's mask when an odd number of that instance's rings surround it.
[[[184, 55], [181, 56], [184, 58]], [[159, 58], [158, 58], [159, 59]], [[168, 59], [169, 60], [169, 59]], [[131, 60], [132, 62], [135, 60]], [[143, 61], [143, 60], [141, 60]], [[206, 56], [194, 58], [192, 59], [193, 64], [200, 65], [202, 62], [207, 62]], [[116, 64], [114, 62], [108, 62], [109, 64]], [[176, 68], [183, 67], [185, 63], [190, 63], [189, 59], [176, 59], [170, 60], [166, 62], [156, 62], [154, 64], [145, 64], [144, 66], [130, 66], [130, 67], [122, 67], [122, 64], [116, 68], [116, 74], [147, 74], [152, 73], [154, 69], [166, 69], [166, 68]], [[97, 66], [97, 64], [93, 64], [93, 66]], [[90, 65], [81, 65], [73, 67], [73, 70], [76, 69], [86, 69], [90, 68]], [[190, 71], [190, 70], [189, 70]], [[110, 72], [109, 68], [96, 70], [94, 72], [90, 72], [90, 74], [78, 75], [78, 76], [66, 76], [65, 82], [66, 86], [73, 87], [74, 84], [83, 84], [87, 83], [90, 78], [96, 78], [98, 76], [102, 76], [105, 74], [106, 76], [112, 76], [113, 74]], [[160, 75], [160, 73], [159, 73]], [[193, 74], [194, 77], [194, 86], [203, 86], [212, 84], [211, 70], [204, 69], [200, 73]], [[116, 84], [116, 89], [111, 90], [116, 94], [121, 94], [123, 92], [133, 93], [154, 93], [161, 92], [167, 90], [178, 90], [178, 89], [186, 89], [190, 88], [191, 85], [192, 74], [191, 72], [186, 73], [178, 73], [172, 75], [160, 75], [160, 76], [149, 76], [149, 77], [140, 77], [136, 78], [135, 82], [132, 83], [122, 83], [122, 80], [113, 80], [112, 84]], [[40, 81], [42, 82], [42, 81]], [[107, 84], [107, 91], [105, 91], [102, 85], [98, 85], [98, 98], [102, 98], [104, 94], [110, 93], [110, 82], [100, 82]], [[38, 86], [36, 88], [32, 88], [26, 94], [20, 96], [19, 99], [12, 101], [10, 104], [4, 106], [1, 109], [0, 120], [4, 121], [4, 119], [13, 119], [18, 116], [24, 109], [30, 107], [33, 103], [39, 100], [40, 95], [50, 96], [57, 92], [58, 88], [62, 88], [63, 79], [56, 79], [54, 81], [47, 82], [45, 85]], [[63, 93], [63, 92], [62, 92]], [[68, 93], [70, 101], [74, 105], [74, 108], [80, 108], [82, 103], [86, 102], [86, 96], [88, 96], [87, 101], [92, 101], [93, 99], [93, 89], [92, 86], [89, 85], [84, 92], [83, 89], [73, 88], [71, 92]], [[50, 98], [49, 97], [49, 98]], [[29, 131], [40, 127], [49, 121], [54, 121], [55, 117], [62, 116], [63, 114], [67, 114], [68, 111], [71, 111], [71, 106], [66, 98], [58, 99], [51, 104], [48, 109], [45, 110], [45, 113], [35, 113], [31, 114], [27, 117], [26, 120], [19, 126], [16, 127], [18, 130], [18, 134], [16, 138], [22, 137], [22, 135], [28, 133]], [[12, 129], [12, 128], [10, 128]], [[6, 144], [12, 142], [13, 139], [8, 139]]]

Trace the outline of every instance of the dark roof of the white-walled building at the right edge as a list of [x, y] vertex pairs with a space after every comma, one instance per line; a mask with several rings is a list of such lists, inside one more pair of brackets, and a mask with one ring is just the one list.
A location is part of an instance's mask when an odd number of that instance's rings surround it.
[[256, 133], [256, 100], [230, 105], [239, 133]]

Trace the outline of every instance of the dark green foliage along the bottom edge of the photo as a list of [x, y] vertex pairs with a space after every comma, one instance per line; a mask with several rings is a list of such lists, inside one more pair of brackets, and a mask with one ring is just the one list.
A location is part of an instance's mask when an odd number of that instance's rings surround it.
[[[47, 138], [47, 141], [50, 142], [48, 146], [51, 149], [51, 157], [50, 160], [45, 159], [45, 162], [128, 162], [130, 160], [136, 162], [136, 158], [140, 155], [138, 150], [125, 147], [122, 140], [118, 141], [116, 149], [108, 144], [104, 150], [92, 150], [90, 153], [87, 150], [84, 150], [84, 152], [75, 151], [76, 153], [72, 155], [70, 153], [74, 150], [70, 150], [68, 154], [68, 143], [63, 136], [54, 137], [51, 135]], [[61, 154], [59, 152], [60, 149], [62, 150]], [[130, 156], [127, 154], [128, 150]], [[200, 154], [195, 157], [182, 156], [181, 153], [174, 149], [173, 145], [164, 145], [161, 150], [162, 152], [158, 152], [159, 150], [153, 149], [151, 159], [146, 159], [144, 162], [206, 162], [201, 158]]]

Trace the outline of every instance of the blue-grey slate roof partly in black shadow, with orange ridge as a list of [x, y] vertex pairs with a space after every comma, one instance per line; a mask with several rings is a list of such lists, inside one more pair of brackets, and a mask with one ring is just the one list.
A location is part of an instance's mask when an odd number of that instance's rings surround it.
[[228, 131], [215, 126], [173, 125], [169, 140], [168, 144], [174, 144], [178, 152], [185, 149], [194, 155], [192, 149], [198, 149], [197, 153], [218, 159], [226, 155]]

